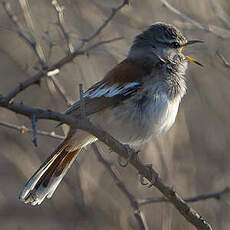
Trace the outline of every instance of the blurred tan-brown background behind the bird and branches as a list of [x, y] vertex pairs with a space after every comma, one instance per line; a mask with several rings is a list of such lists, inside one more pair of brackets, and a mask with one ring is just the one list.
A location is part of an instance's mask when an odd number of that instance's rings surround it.
[[[57, 25], [52, 1], [0, 0], [0, 93], [6, 94], [19, 82], [38, 71], [33, 50], [18, 36], [17, 27], [6, 14], [4, 2], [17, 16], [20, 30], [36, 38], [41, 54], [50, 64], [67, 55], [66, 43]], [[64, 25], [70, 41], [77, 47], [108, 17], [118, 0], [63, 0]], [[141, 146], [141, 159], [152, 163], [165, 183], [183, 197], [217, 192], [230, 185], [230, 68], [216, 52], [230, 61], [230, 2], [228, 0], [169, 0], [168, 3], [187, 17], [175, 14], [163, 1], [131, 1], [93, 41], [122, 36], [123, 39], [100, 46], [88, 55], [65, 65], [56, 76], [67, 96], [78, 98], [78, 84], [87, 89], [123, 60], [133, 38], [147, 26], [163, 21], [176, 25], [189, 39], [205, 40], [202, 45], [184, 52], [203, 65], [190, 64], [187, 71], [188, 91], [180, 106], [176, 124], [163, 137]], [[224, 16], [224, 17], [223, 17]], [[67, 105], [52, 81], [43, 79], [16, 98], [34, 107], [64, 111]], [[31, 127], [30, 121], [0, 109], [0, 121]], [[39, 130], [64, 135], [55, 122], [39, 121]], [[2, 230], [21, 229], [140, 229], [130, 203], [117, 188], [91, 147], [82, 151], [51, 200], [30, 207], [18, 200], [27, 179], [41, 161], [53, 151], [59, 140], [39, 136], [38, 147], [29, 133], [20, 134], [0, 127], [0, 223]], [[159, 197], [154, 188], [139, 183], [130, 166], [121, 168], [117, 155], [98, 144], [103, 157], [116, 175], [136, 197]], [[206, 200], [190, 204], [203, 215], [213, 229], [228, 230], [230, 207], [227, 200]], [[168, 203], [141, 207], [149, 229], [192, 230], [178, 211]]]

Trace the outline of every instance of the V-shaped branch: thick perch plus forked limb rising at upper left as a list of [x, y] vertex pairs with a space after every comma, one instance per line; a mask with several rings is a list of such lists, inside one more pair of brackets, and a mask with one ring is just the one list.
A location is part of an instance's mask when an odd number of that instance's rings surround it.
[[[21, 2], [26, 2], [26, 1], [21, 0]], [[23, 103], [17, 103], [17, 102], [12, 101], [12, 99], [18, 93], [25, 90], [27, 87], [31, 86], [32, 84], [40, 81], [42, 77], [49, 75], [50, 71], [56, 71], [56, 70], [59, 71], [61, 67], [71, 62], [76, 56], [86, 54], [92, 49], [100, 45], [121, 39], [121, 38], [115, 38], [115, 39], [111, 39], [107, 41], [98, 42], [93, 45], [89, 45], [83, 49], [83, 47], [89, 41], [91, 41], [99, 33], [101, 33], [101, 31], [108, 25], [108, 23], [116, 15], [116, 13], [119, 12], [126, 4], [128, 4], [128, 0], [123, 0], [117, 8], [112, 9], [111, 14], [104, 21], [104, 23], [102, 23], [102, 25], [100, 25], [94, 33], [89, 35], [87, 38], [82, 39], [81, 45], [77, 49], [75, 49], [71, 54], [68, 54], [67, 56], [63, 57], [55, 64], [43, 68], [42, 71], [38, 72], [34, 76], [30, 77], [26, 81], [19, 84], [15, 89], [9, 92], [8, 95], [6, 96], [0, 95], [0, 106], [6, 109], [9, 109], [11, 111], [14, 111], [16, 113], [25, 115], [30, 119], [36, 118], [36, 119], [55, 120], [55, 121], [66, 123], [72, 127], [85, 130], [91, 133], [92, 135], [94, 135], [95, 137], [97, 137], [100, 141], [107, 144], [114, 152], [119, 154], [121, 157], [128, 158], [130, 156], [130, 153], [132, 153], [130, 164], [134, 168], [136, 168], [139, 174], [145, 177], [150, 183], [153, 181], [153, 179], [155, 179], [155, 183], [153, 186], [159, 189], [162, 192], [162, 194], [164, 194], [166, 198], [170, 200], [170, 202], [177, 208], [177, 210], [197, 229], [211, 230], [212, 229], [211, 226], [203, 219], [203, 217], [201, 217], [194, 209], [189, 207], [185, 203], [185, 201], [172, 188], [165, 185], [162, 182], [161, 178], [158, 176], [157, 172], [155, 172], [153, 168], [149, 168], [145, 166], [138, 159], [138, 156], [135, 151], [133, 151], [128, 146], [122, 145], [120, 142], [115, 140], [112, 136], [110, 136], [104, 130], [101, 130], [95, 127], [88, 119], [78, 119], [71, 115], [65, 115], [65, 114], [61, 114], [61, 113], [51, 111], [51, 110], [36, 109], [30, 106], [27, 106]], [[34, 133], [34, 136], [35, 136], [35, 134], [38, 132], [37, 128], [34, 127], [32, 129], [32, 132]]]

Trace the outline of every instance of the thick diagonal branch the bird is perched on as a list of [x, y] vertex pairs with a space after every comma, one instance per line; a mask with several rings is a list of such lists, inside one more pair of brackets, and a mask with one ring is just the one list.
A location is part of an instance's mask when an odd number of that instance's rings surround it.
[[[36, 115], [37, 119], [49, 119], [49, 120], [60, 121], [63, 123], [67, 123], [68, 125], [74, 128], [82, 129], [97, 137], [100, 141], [108, 145], [111, 150], [119, 154], [121, 157], [128, 158], [129, 154], [132, 153], [130, 164], [134, 168], [136, 168], [136, 170], [140, 175], [144, 176], [150, 183], [152, 182], [153, 168], [149, 168], [145, 166], [142, 162], [140, 162], [134, 150], [132, 150], [128, 146], [122, 145], [120, 142], [114, 139], [107, 132], [92, 125], [92, 123], [88, 119], [82, 120], [72, 115], [61, 114], [51, 110], [35, 109], [26, 106], [22, 103], [13, 102], [7, 104], [5, 103], [3, 96], [0, 97], [0, 106], [8, 108], [11, 111], [23, 114], [28, 117], [31, 117], [32, 115]], [[155, 172], [155, 174], [157, 173]], [[177, 208], [177, 210], [186, 218], [188, 222], [193, 224], [197, 229], [202, 229], [202, 230], [212, 229], [209, 223], [206, 220], [204, 220], [204, 218], [200, 216], [194, 209], [189, 207], [185, 203], [185, 201], [175, 192], [175, 190], [165, 185], [159, 176], [155, 179], [156, 180], [153, 186], [159, 189], [161, 193], [164, 196], [166, 196], [167, 199], [170, 200], [170, 202]]]

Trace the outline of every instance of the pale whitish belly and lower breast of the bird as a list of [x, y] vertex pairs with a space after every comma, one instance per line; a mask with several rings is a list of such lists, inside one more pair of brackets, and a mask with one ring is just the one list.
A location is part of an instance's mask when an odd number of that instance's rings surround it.
[[[169, 100], [164, 90], [148, 89], [147, 98], [140, 106], [136, 98], [98, 114], [95, 122], [122, 143], [140, 145], [153, 136], [167, 132], [173, 125], [180, 98]], [[146, 94], [146, 92], [143, 92]]]

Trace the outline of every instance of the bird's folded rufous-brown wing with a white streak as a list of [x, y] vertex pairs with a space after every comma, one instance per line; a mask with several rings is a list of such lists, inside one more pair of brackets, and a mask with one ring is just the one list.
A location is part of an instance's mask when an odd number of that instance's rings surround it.
[[[144, 67], [131, 59], [118, 64], [105, 78], [90, 87], [83, 95], [86, 115], [99, 112], [135, 94], [143, 85], [142, 79], [149, 74]], [[80, 100], [76, 100], [65, 114], [80, 116]]]

